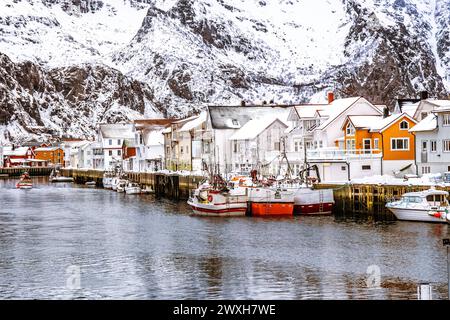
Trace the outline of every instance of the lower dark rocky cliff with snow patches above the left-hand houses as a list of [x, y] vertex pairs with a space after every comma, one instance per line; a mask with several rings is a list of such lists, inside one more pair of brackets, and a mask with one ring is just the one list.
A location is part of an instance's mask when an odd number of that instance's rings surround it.
[[153, 91], [104, 65], [46, 70], [0, 54], [0, 142], [91, 137], [96, 125], [161, 117]]

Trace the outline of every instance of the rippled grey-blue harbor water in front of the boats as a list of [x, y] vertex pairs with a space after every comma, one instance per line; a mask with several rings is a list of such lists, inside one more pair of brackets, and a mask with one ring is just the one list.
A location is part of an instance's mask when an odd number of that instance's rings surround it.
[[200, 218], [152, 195], [15, 182], [0, 180], [3, 299], [416, 299], [421, 282], [447, 297], [448, 225]]

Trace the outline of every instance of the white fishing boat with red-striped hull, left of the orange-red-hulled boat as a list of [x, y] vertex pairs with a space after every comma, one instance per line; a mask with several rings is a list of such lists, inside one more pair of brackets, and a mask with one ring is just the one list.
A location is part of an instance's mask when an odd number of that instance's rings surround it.
[[213, 183], [202, 183], [189, 198], [194, 215], [208, 217], [245, 216], [247, 211], [246, 188], [229, 188], [225, 181], [216, 175]]

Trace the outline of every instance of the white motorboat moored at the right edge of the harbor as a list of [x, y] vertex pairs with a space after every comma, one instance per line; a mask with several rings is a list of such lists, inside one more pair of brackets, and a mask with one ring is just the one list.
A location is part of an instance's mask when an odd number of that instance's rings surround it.
[[440, 222], [450, 221], [448, 192], [434, 188], [407, 192], [399, 201], [386, 204], [398, 220]]

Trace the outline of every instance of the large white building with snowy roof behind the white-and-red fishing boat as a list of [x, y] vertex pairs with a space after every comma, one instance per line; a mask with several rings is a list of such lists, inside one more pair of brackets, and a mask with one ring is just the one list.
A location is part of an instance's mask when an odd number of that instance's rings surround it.
[[[270, 167], [272, 173], [280, 171], [284, 151], [281, 138], [289, 131], [287, 119], [291, 107], [271, 104], [208, 106], [206, 132], [213, 147], [206, 150], [209, 153], [204, 152], [205, 165], [222, 174], [263, 167]], [[253, 131], [258, 132], [254, 135]], [[240, 155], [241, 152], [245, 154]]]

